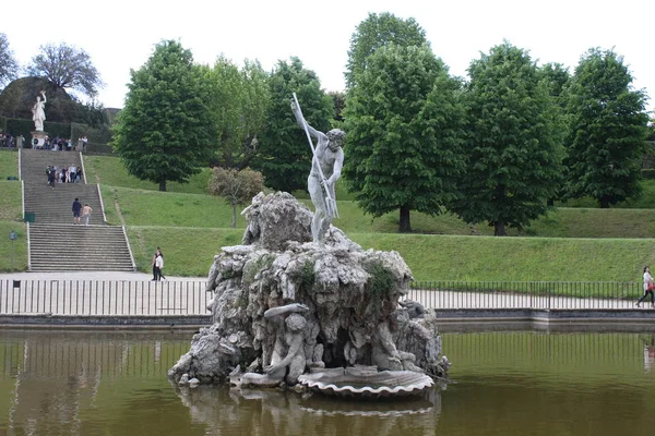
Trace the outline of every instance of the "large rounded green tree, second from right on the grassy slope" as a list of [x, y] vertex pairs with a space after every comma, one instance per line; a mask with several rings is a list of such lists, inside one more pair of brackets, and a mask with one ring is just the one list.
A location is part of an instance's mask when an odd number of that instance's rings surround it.
[[496, 235], [521, 230], [547, 210], [562, 172], [560, 120], [527, 52], [509, 43], [468, 68], [468, 166], [452, 207], [469, 223], [487, 221]]

